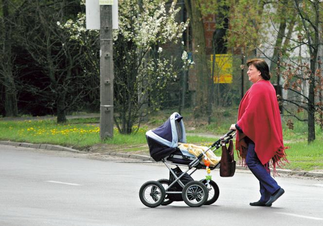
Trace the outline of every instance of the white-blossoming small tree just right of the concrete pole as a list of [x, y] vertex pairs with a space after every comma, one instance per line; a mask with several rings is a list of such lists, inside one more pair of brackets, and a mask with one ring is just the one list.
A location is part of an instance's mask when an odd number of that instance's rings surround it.
[[[162, 45], [178, 42], [187, 23], [176, 22], [177, 1], [119, 1], [119, 29], [114, 31], [114, 122], [121, 133], [159, 108], [168, 82], [178, 75], [174, 58]], [[185, 62], [187, 56], [183, 56]], [[180, 59], [179, 59], [180, 60]], [[190, 64], [190, 62], [188, 62]], [[142, 106], [149, 105], [148, 109]], [[139, 128], [139, 126], [138, 126]]]

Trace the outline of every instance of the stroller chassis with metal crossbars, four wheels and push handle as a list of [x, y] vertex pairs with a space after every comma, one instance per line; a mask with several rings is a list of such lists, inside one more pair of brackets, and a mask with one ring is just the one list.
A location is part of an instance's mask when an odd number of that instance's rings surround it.
[[[169, 169], [171, 175], [174, 177], [174, 181], [169, 184], [168, 179], [160, 179], [158, 181], [147, 181], [144, 183], [139, 191], [139, 197], [142, 203], [147, 207], [158, 207], [159, 205], [168, 205], [173, 201], [184, 201], [190, 207], [199, 207], [202, 205], [210, 205], [214, 203], [219, 195], [219, 189], [215, 181], [202, 179], [200, 181], [190, 180], [186, 184], [184, 184], [180, 179], [186, 175], [191, 176], [197, 169], [205, 169], [206, 166], [200, 164], [202, 158], [206, 155], [206, 152], [214, 148], [212, 151], [214, 152], [221, 145], [228, 144], [231, 139], [235, 136], [235, 130], [230, 130], [223, 137], [217, 140], [214, 144], [212, 144], [207, 150], [201, 153], [199, 156], [195, 157], [193, 161], [188, 164], [176, 163], [167, 160], [169, 156], [165, 156], [160, 159], [166, 167]], [[209, 167], [210, 170], [218, 168], [221, 162], [217, 163], [215, 166]], [[182, 171], [181, 175], [177, 175], [176, 172], [173, 171], [171, 165], [185, 166], [188, 167], [187, 170]], [[192, 172], [188, 174], [188, 172], [192, 169]], [[191, 178], [191, 177], [190, 177]], [[169, 191], [171, 187], [173, 187], [176, 183], [182, 188], [182, 191]], [[167, 186], [167, 187], [166, 187]], [[178, 189], [178, 188], [177, 188]], [[209, 198], [209, 192], [214, 190], [214, 196]], [[166, 197], [166, 194], [181, 194], [180, 200], [175, 198], [175, 196]]]

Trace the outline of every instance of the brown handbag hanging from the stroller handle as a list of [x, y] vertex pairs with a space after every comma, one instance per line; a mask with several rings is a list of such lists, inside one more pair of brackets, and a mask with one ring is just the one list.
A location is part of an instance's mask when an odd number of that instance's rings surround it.
[[229, 148], [222, 143], [222, 155], [220, 161], [220, 177], [232, 177], [235, 172], [235, 161], [233, 155], [233, 141], [229, 141]]

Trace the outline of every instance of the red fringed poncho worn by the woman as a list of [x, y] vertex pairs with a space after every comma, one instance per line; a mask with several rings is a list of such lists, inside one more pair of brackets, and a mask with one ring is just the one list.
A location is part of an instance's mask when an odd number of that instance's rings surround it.
[[263, 165], [271, 160], [275, 170], [276, 163], [287, 161], [276, 92], [269, 81], [258, 81], [247, 91], [239, 105], [237, 124], [243, 133], [237, 132], [235, 148], [243, 162], [248, 149], [245, 136], [254, 142]]

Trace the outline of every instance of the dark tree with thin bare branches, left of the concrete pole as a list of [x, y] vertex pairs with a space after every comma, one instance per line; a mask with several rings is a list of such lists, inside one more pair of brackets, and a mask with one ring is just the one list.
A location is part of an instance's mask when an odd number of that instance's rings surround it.
[[20, 14], [21, 42], [48, 78], [46, 88], [36, 92], [54, 106], [57, 123], [66, 122], [66, 110], [84, 95], [84, 83], [77, 74], [83, 49], [57, 23], [66, 21], [78, 5], [79, 0], [29, 0]]

